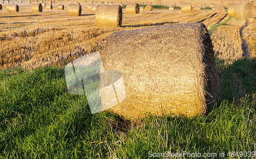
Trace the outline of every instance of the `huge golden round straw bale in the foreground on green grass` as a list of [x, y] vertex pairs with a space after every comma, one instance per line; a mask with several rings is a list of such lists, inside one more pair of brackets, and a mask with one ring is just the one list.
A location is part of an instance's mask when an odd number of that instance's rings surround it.
[[121, 72], [125, 85], [125, 94], [118, 84], [112, 85], [117, 94], [113, 98], [121, 102], [109, 111], [135, 119], [147, 112], [193, 117], [204, 114], [217, 99], [214, 51], [204, 24], [119, 31], [102, 48], [104, 70]]

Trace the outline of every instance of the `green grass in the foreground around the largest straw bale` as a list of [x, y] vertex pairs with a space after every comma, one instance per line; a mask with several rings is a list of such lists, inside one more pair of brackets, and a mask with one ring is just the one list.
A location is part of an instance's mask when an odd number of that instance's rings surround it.
[[208, 116], [149, 116], [131, 128], [118, 124], [124, 120], [114, 113], [92, 115], [86, 96], [67, 92], [63, 67], [0, 70], [0, 158], [255, 151], [256, 61], [223, 63], [217, 57], [219, 100]]

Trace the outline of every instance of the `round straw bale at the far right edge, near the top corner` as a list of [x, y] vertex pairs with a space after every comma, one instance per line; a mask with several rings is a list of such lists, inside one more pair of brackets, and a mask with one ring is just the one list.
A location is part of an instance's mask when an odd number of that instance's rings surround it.
[[242, 3], [237, 3], [234, 6], [233, 17], [235, 18], [241, 18], [241, 19], [254, 18], [255, 14], [256, 14], [256, 9], [253, 3], [242, 2]]

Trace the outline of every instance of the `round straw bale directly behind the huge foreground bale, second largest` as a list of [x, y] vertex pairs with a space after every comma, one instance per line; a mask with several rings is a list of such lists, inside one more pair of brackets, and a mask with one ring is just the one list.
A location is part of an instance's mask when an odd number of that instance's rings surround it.
[[122, 24], [122, 7], [120, 5], [100, 5], [97, 7], [97, 27], [120, 27]]

